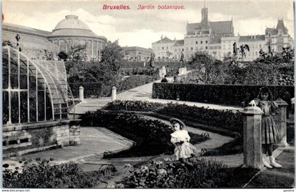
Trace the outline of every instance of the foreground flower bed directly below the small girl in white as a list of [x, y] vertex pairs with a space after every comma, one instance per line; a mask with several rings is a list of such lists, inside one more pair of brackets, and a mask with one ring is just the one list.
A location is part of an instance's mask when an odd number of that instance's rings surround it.
[[121, 188], [217, 188], [242, 187], [258, 169], [227, 168], [221, 162], [197, 160], [152, 161], [130, 170]]

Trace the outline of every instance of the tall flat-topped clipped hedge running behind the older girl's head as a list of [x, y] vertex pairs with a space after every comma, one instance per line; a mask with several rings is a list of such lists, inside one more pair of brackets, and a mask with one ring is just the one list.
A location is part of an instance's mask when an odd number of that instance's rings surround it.
[[[262, 85], [233, 84], [171, 84], [154, 83], [152, 98], [162, 98], [222, 105], [241, 105], [242, 101], [256, 98]], [[267, 86], [274, 98], [283, 98], [285, 91], [294, 97], [294, 86]], [[249, 94], [249, 98], [247, 98]]]

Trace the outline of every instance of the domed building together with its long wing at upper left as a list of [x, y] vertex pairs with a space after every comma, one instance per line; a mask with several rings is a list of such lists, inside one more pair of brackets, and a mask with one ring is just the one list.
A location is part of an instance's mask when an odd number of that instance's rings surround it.
[[66, 18], [58, 22], [52, 32], [3, 23], [3, 41], [9, 41], [16, 46], [16, 34], [20, 36], [19, 45], [22, 52], [29, 58], [37, 58], [39, 52], [44, 50], [55, 54], [60, 51], [69, 53], [75, 46], [85, 45], [87, 60], [100, 59], [101, 50], [107, 41], [106, 37], [94, 34], [86, 23], [78, 19], [77, 15], [66, 15]]

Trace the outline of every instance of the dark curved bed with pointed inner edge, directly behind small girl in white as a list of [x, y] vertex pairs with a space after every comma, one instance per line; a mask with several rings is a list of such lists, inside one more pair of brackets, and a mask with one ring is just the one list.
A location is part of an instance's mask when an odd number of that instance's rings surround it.
[[[135, 141], [127, 151], [106, 155], [106, 158], [123, 158], [144, 155], [173, 153], [171, 143], [173, 129], [159, 120], [147, 120], [130, 113], [107, 113], [97, 110], [95, 113], [82, 115], [82, 126], [106, 127], [112, 132]], [[190, 134], [192, 143], [203, 141], [202, 136]]]

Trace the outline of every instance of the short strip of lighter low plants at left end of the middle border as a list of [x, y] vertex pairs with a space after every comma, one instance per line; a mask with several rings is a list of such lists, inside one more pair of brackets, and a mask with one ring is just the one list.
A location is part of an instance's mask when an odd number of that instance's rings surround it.
[[113, 101], [108, 103], [106, 110], [135, 110], [135, 111], [152, 111], [164, 106], [161, 103], [151, 103], [147, 101]]

